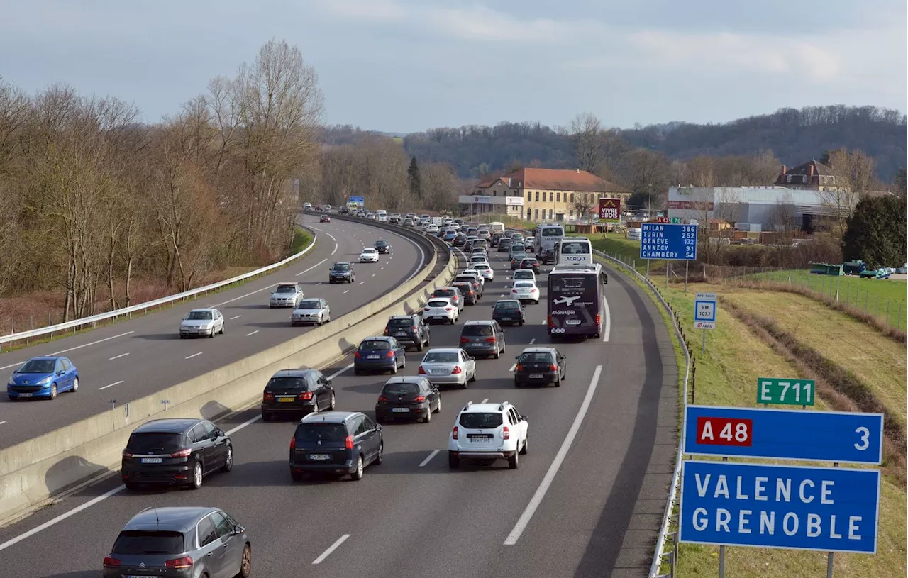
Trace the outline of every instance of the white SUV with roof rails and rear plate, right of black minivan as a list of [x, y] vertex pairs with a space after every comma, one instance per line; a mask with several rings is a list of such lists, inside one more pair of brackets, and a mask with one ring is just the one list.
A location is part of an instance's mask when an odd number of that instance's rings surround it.
[[500, 404], [469, 402], [457, 416], [448, 438], [448, 465], [460, 466], [460, 460], [508, 460], [517, 469], [518, 455], [527, 454], [529, 425], [517, 407], [507, 401]]

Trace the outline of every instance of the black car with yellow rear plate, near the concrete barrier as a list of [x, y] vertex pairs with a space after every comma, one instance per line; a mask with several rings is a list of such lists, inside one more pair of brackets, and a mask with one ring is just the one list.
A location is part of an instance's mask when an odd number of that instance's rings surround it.
[[262, 391], [262, 421], [271, 421], [273, 416], [332, 411], [335, 407], [337, 399], [331, 379], [311, 367], [281, 369]]

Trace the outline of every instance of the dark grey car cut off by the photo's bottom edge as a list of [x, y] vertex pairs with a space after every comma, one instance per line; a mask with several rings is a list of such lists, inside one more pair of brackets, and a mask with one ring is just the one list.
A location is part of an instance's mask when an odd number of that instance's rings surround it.
[[252, 543], [230, 514], [210, 507], [146, 508], [104, 557], [105, 578], [225, 578], [252, 573]]

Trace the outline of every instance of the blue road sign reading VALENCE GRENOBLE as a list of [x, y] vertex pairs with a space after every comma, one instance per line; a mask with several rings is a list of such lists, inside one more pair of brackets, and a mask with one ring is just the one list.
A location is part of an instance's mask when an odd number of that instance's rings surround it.
[[876, 554], [879, 470], [695, 460], [682, 467], [681, 542]]

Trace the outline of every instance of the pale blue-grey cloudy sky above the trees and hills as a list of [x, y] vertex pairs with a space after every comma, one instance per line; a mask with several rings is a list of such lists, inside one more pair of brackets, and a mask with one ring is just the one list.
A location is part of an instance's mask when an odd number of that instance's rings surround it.
[[0, 15], [6, 82], [115, 95], [149, 122], [272, 37], [318, 71], [326, 122], [387, 132], [908, 113], [904, 0], [0, 0]]

